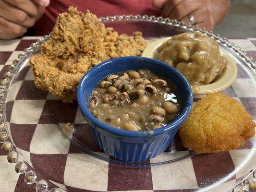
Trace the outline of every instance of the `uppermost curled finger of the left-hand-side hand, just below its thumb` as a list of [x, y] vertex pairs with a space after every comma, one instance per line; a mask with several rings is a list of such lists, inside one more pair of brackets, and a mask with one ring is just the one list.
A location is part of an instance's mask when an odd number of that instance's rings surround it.
[[28, 15], [35, 17], [38, 14], [39, 5], [34, 3], [32, 0], [3, 0], [14, 7], [17, 7], [24, 12], [26, 12]]

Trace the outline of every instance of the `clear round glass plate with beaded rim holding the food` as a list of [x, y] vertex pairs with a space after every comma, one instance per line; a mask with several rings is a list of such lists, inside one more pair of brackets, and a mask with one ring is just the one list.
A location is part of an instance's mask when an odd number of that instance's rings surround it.
[[[216, 39], [238, 67], [235, 83], [222, 92], [240, 101], [256, 120], [255, 65], [252, 58], [226, 38], [161, 17], [128, 15], [99, 20], [119, 34], [132, 35], [134, 31], [142, 31], [148, 43], [187, 31], [201, 31]], [[58, 186], [69, 191], [229, 191], [241, 181], [253, 179], [256, 137], [237, 150], [201, 155], [183, 147], [176, 137], [162, 155], [139, 163], [122, 162], [103, 153], [93, 141], [77, 102], [63, 103], [58, 97], [37, 89], [34, 84], [29, 59], [39, 53], [40, 45], [47, 38], [44, 36], [25, 49], [1, 81], [0, 90], [5, 103], [2, 106], [5, 116], [2, 117], [1, 131], [10, 133], [7, 140], [11, 141], [13, 153], [16, 151], [19, 156], [18, 160], [13, 160], [13, 154], [9, 154], [10, 159], [13, 162], [25, 161], [28, 166], [25, 173], [33, 170], [37, 181], [48, 181], [49, 189]], [[197, 95], [194, 100], [203, 96]], [[67, 122], [73, 123], [73, 130], [65, 128]], [[245, 181], [244, 189], [248, 188]]]

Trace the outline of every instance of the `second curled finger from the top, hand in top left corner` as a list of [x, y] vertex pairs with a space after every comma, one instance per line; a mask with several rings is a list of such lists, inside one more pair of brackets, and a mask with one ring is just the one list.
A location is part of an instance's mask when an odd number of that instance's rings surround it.
[[31, 27], [35, 24], [35, 18], [4, 1], [0, 1], [0, 16], [14, 24], [25, 27]]

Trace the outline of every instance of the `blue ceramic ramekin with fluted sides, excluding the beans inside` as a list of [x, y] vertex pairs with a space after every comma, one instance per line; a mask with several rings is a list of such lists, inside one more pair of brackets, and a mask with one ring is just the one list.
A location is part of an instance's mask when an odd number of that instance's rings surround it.
[[[113, 73], [138, 69], [149, 69], [176, 84], [182, 100], [180, 116], [165, 127], [142, 132], [116, 129], [95, 118], [89, 111], [88, 99], [98, 82]], [[184, 76], [170, 65], [150, 58], [121, 57], [104, 61], [87, 72], [78, 85], [77, 101], [100, 148], [117, 159], [135, 162], [158, 156], [171, 144], [192, 108], [193, 93]]]

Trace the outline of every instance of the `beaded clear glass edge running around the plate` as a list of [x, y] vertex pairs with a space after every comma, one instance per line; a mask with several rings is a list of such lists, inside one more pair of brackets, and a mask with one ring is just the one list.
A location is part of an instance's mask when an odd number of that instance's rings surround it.
[[[189, 30], [191, 32], [202, 32], [204, 35], [210, 36], [215, 39], [219, 44], [228, 48], [237, 56], [239, 56], [244, 62], [256, 72], [256, 62], [253, 62], [253, 57], [248, 57], [245, 51], [242, 51], [239, 46], [234, 46], [234, 43], [230, 42], [227, 38], [221, 37], [219, 34], [215, 35], [212, 31], [207, 31], [205, 28], [199, 28], [196, 25], [185, 24], [177, 20], [171, 20], [163, 17], [147, 16], [147, 15], [120, 15], [109, 16], [98, 19], [102, 23], [114, 22], [114, 21], [144, 21], [153, 22], [158, 24], [167, 24], [182, 29]], [[13, 75], [19, 69], [21, 63], [35, 50], [37, 50], [43, 42], [49, 39], [49, 35], [43, 36], [38, 39], [36, 43], [32, 43], [29, 48], [25, 48], [24, 52], [18, 55], [18, 58], [12, 61], [12, 65], [8, 67], [8, 72], [3, 74], [3, 79], [0, 80], [0, 143], [2, 143], [1, 150], [4, 154], [8, 154], [7, 160], [9, 163], [16, 163], [15, 171], [19, 174], [24, 174], [24, 181], [27, 184], [36, 183], [37, 192], [61, 192], [64, 191], [61, 188], [49, 189], [48, 182], [46, 180], [37, 180], [37, 174], [33, 170], [27, 171], [27, 164], [24, 161], [18, 161], [18, 151], [12, 141], [11, 133], [8, 132], [6, 116], [5, 116], [5, 104], [8, 94], [9, 85], [12, 82]], [[256, 167], [252, 169], [244, 178], [235, 183], [233, 187], [227, 191], [232, 192], [245, 192], [253, 191], [256, 189]]]

